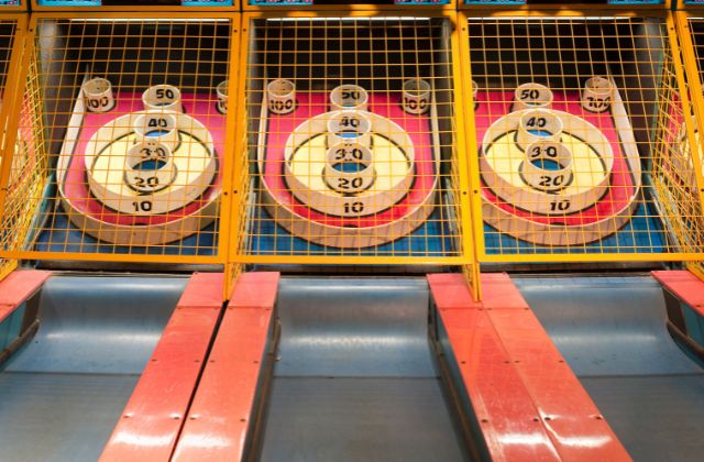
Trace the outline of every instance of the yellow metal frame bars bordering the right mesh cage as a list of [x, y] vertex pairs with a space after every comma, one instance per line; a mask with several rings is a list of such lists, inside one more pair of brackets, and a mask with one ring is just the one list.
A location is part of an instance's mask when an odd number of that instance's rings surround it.
[[[592, 7], [591, 9], [584, 10], [564, 10], [564, 9], [544, 9], [544, 10], [535, 10], [535, 9], [519, 9], [513, 11], [497, 11], [497, 10], [487, 10], [487, 9], [471, 9], [471, 11], [461, 11], [459, 13], [459, 29], [461, 31], [461, 56], [464, 59], [463, 64], [463, 75], [464, 81], [472, 81], [472, 73], [470, 66], [470, 45], [469, 45], [469, 31], [468, 31], [468, 19], [469, 18], [537, 18], [537, 16], [601, 16], [605, 15], [605, 10], [602, 8], [603, 6], [596, 8]], [[623, 7], [622, 7], [623, 8]], [[669, 45], [671, 47], [673, 54], [673, 65], [675, 67], [676, 80], [678, 80], [678, 89], [681, 95], [686, 95], [684, 89], [686, 88], [684, 76], [682, 74], [682, 65], [679, 63], [680, 52], [679, 44], [676, 43], [676, 37], [674, 36], [674, 25], [672, 20], [672, 13], [669, 11], [663, 11], [661, 9], [650, 8], [645, 11], [624, 11], [618, 9], [608, 9], [609, 12], [606, 15], [616, 15], [624, 18], [660, 18], [667, 22], [667, 29], [669, 36], [664, 37], [666, 41], [669, 41]], [[686, 103], [686, 97], [683, 98]], [[473, 108], [473, 95], [472, 91], [465, 86], [465, 95], [464, 95], [465, 108]], [[684, 113], [684, 120], [688, 127], [688, 135], [693, 136], [693, 121], [688, 113]], [[474, 111], [468, 110], [466, 117], [466, 132], [469, 133], [469, 147], [470, 151], [469, 156], [471, 158], [470, 165], [470, 176], [472, 180], [472, 202], [474, 210], [473, 216], [473, 224], [474, 224], [474, 237], [476, 243], [476, 252], [477, 260], [480, 262], [501, 262], [501, 263], [542, 263], [542, 262], [560, 262], [560, 263], [579, 263], [579, 262], [639, 262], [639, 261], [696, 261], [702, 260], [704, 257], [704, 249], [700, 252], [670, 252], [670, 253], [560, 253], [560, 254], [528, 254], [528, 253], [510, 253], [510, 254], [493, 254], [486, 252], [486, 245], [484, 240], [484, 222], [483, 222], [483, 213], [482, 213], [482, 196], [480, 191], [481, 179], [480, 179], [480, 162], [476, 153], [479, 152], [479, 142], [476, 140], [475, 132], [475, 122], [474, 122]], [[690, 138], [692, 139], [692, 138]], [[698, 161], [695, 161], [698, 162]], [[698, 185], [701, 183], [701, 174], [697, 170], [697, 182]], [[701, 190], [701, 189], [700, 189]], [[702, 194], [700, 193], [700, 202], [704, 204], [702, 200]]]

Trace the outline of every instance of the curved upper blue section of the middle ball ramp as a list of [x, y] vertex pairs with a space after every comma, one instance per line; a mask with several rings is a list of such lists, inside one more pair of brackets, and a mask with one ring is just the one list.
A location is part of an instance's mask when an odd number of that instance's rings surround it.
[[437, 375], [425, 278], [284, 278], [277, 376]]

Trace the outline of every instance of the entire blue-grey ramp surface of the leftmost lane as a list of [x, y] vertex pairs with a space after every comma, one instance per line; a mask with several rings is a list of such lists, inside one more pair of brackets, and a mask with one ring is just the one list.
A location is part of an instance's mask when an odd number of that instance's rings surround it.
[[187, 278], [54, 276], [0, 372], [0, 460], [95, 461]]

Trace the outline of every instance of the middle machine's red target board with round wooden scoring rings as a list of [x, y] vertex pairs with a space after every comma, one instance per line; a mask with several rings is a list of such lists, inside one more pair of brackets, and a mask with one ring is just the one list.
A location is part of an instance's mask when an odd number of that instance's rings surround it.
[[[266, 136], [257, 163], [270, 215], [293, 234], [332, 248], [369, 248], [411, 233], [436, 199], [431, 101], [415, 114], [404, 110], [400, 94], [372, 95], [366, 110], [330, 110], [329, 100], [326, 94], [297, 95], [287, 114], [263, 109]], [[350, 127], [370, 121], [366, 163], [358, 154], [364, 146], [354, 140], [359, 135], [331, 141], [336, 119]]]

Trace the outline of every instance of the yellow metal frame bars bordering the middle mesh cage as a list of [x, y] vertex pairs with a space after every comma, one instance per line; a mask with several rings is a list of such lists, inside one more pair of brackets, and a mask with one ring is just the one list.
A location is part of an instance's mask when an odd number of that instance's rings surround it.
[[[414, 10], [415, 11], [415, 10]], [[466, 165], [466, 158], [464, 158], [461, 154], [466, 152], [465, 147], [465, 133], [462, 130], [465, 127], [464, 122], [464, 109], [462, 102], [463, 95], [463, 81], [462, 81], [462, 66], [460, 64], [461, 59], [459, 58], [460, 53], [460, 44], [459, 44], [459, 31], [457, 29], [457, 15], [453, 11], [426, 11], [426, 14], [422, 14], [424, 18], [444, 18], [448, 19], [453, 28], [451, 33], [450, 42], [451, 42], [451, 53], [452, 53], [452, 81], [454, 88], [454, 118], [455, 118], [455, 142], [458, 150], [458, 173], [460, 179], [460, 190], [461, 190], [461, 204], [460, 210], [462, 215], [462, 223], [459, 223], [462, 229], [462, 254], [459, 256], [356, 256], [356, 255], [346, 255], [346, 256], [327, 256], [327, 255], [248, 255], [244, 253], [243, 249], [243, 240], [245, 235], [243, 235], [242, 222], [240, 221], [244, 218], [243, 212], [238, 212], [238, 210], [244, 210], [246, 207], [245, 201], [245, 185], [243, 185], [243, 168], [248, 168], [248, 162], [235, 162], [234, 168], [232, 172], [233, 175], [233, 188], [234, 188], [234, 198], [233, 198], [233, 216], [232, 216], [232, 224], [230, 227], [233, 235], [231, 237], [231, 245], [230, 245], [230, 257], [229, 261], [233, 264], [250, 264], [250, 263], [258, 263], [258, 264], [317, 264], [317, 265], [457, 265], [464, 266], [465, 273], [469, 276], [469, 279], [475, 290], [475, 295], [479, 296], [479, 266], [476, 265], [476, 258], [474, 255], [474, 245], [473, 245], [473, 237], [472, 237], [472, 222], [470, 217], [471, 213], [471, 204], [470, 204], [470, 179], [468, 176], [469, 166]], [[340, 11], [340, 10], [326, 10], [323, 13], [316, 14], [315, 11], [289, 11], [288, 14], [284, 16], [288, 18], [316, 18], [316, 16], [353, 16], [353, 18], [369, 18], [369, 16], [381, 16], [384, 15], [381, 11], [364, 11], [361, 9], [353, 9], [350, 11]], [[251, 21], [254, 19], [266, 19], [266, 18], [282, 18], [282, 14], [276, 13], [267, 13], [267, 12], [248, 12], [242, 15], [242, 35], [240, 43], [240, 59], [241, 63], [249, 63], [249, 28]], [[249, 155], [248, 153], [248, 124], [246, 124], [246, 108], [243, 101], [246, 98], [246, 78], [248, 78], [248, 66], [241, 66], [240, 73], [238, 76], [239, 88], [238, 88], [238, 101], [241, 102], [238, 108], [238, 123], [237, 123], [237, 133], [235, 133], [235, 152], [243, 153], [243, 155]]]

